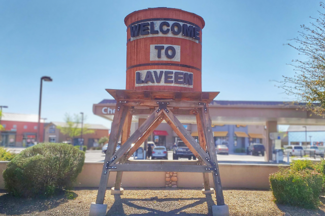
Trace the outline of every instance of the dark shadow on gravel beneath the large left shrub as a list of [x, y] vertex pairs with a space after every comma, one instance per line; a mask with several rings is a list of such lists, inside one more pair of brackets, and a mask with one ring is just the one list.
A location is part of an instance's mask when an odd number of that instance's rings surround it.
[[[63, 192], [48, 198], [18, 198], [6, 193], [6, 191], [0, 191], [0, 193], [3, 193], [0, 196], [0, 214], [6, 215], [47, 211], [69, 201]], [[73, 197], [78, 196], [74, 192], [70, 193]]]

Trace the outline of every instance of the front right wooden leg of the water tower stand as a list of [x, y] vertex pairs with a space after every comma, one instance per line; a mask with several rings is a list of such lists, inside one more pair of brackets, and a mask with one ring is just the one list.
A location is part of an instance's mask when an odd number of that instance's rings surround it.
[[207, 149], [208, 149], [208, 152], [210, 155], [210, 160], [216, 164], [216, 170], [212, 175], [213, 175], [213, 183], [214, 183], [214, 190], [215, 190], [217, 205], [224, 205], [224, 198], [223, 198], [221, 179], [220, 179], [220, 174], [219, 174], [217, 153], [215, 150], [213, 132], [212, 132], [212, 127], [211, 127], [211, 119], [210, 119], [208, 107], [199, 108], [199, 115], [200, 115], [200, 118], [202, 119], [202, 123], [204, 125], [204, 131], [205, 131], [206, 138], [207, 138]]

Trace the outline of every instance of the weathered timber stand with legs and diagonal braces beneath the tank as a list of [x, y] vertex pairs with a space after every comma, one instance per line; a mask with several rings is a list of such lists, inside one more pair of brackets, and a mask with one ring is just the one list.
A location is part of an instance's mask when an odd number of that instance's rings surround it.
[[[132, 119], [130, 108], [134, 109], [134, 106], [156, 107], [156, 109], [154, 111], [150, 111], [151, 114], [149, 117], [141, 126], [139, 126], [136, 132], [128, 138], [129, 124], [131, 124]], [[174, 115], [173, 111], [171, 111], [170, 107], [190, 108], [191, 111], [193, 111], [190, 114], [196, 114], [200, 144], [198, 144], [196, 140], [194, 140], [194, 138], [188, 133], [182, 123]], [[121, 100], [117, 101], [115, 110], [116, 111], [112, 122], [112, 131], [108, 143], [107, 153], [105, 156], [96, 203], [104, 203], [110, 171], [118, 171], [115, 183], [115, 187], [117, 186], [117, 189], [120, 188], [122, 171], [186, 171], [203, 172], [204, 185], [206, 190], [209, 188], [209, 180], [206, 173], [212, 172], [217, 204], [224, 204], [213, 132], [211, 127], [211, 119], [206, 103], [195, 101]], [[188, 111], [184, 113], [188, 113]], [[125, 119], [128, 120], [125, 122]], [[165, 120], [172, 127], [173, 131], [181, 138], [181, 140], [198, 158], [198, 160], [202, 162], [197, 163], [197, 165], [183, 165], [177, 164], [177, 162], [175, 162], [175, 164], [141, 164], [141, 161], [136, 164], [127, 164], [128, 158], [141, 146], [141, 144], [152, 134], [154, 129], [163, 120]], [[124, 128], [124, 136], [122, 136], [123, 143], [121, 147], [114, 153], [119, 137], [121, 136], [122, 128]], [[133, 143], [135, 143], [135, 145], [132, 147]], [[206, 151], [208, 151], [209, 154], [207, 154]]]

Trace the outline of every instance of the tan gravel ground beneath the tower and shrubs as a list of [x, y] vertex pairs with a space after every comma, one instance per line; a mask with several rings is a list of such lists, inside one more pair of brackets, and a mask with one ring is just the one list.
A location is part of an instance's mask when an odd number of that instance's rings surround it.
[[[48, 199], [14, 198], [0, 191], [0, 215], [88, 215], [89, 206], [97, 195], [96, 189], [74, 191], [76, 198], [63, 195]], [[308, 210], [277, 205], [272, 192], [254, 190], [224, 190], [225, 203], [231, 215], [325, 215], [325, 205]], [[325, 196], [320, 197], [325, 202]], [[110, 195], [105, 203], [106, 215], [212, 215], [215, 195], [204, 195], [201, 189], [180, 190], [161, 188], [125, 188], [124, 195]]]

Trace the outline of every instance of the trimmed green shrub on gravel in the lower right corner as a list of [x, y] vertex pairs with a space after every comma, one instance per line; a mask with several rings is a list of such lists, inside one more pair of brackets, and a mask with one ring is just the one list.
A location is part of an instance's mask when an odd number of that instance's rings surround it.
[[315, 170], [283, 169], [270, 175], [273, 195], [277, 203], [315, 208], [323, 177]]

